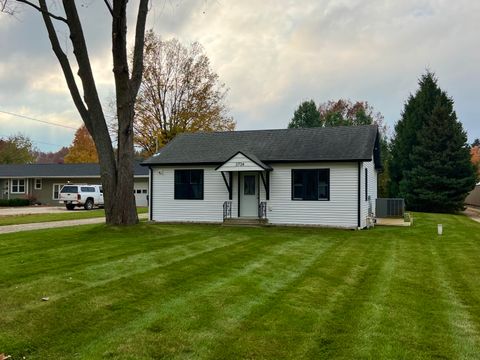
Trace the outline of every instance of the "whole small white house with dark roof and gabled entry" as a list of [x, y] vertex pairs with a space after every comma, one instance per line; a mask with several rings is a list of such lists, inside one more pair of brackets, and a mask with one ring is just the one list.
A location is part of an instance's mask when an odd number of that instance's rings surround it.
[[376, 126], [181, 134], [142, 163], [150, 219], [363, 228], [379, 150]]

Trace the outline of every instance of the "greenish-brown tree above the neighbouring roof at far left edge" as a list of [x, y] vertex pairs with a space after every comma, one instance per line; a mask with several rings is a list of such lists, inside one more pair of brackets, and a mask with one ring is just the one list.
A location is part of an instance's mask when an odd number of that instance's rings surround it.
[[31, 164], [35, 148], [26, 135], [16, 134], [0, 139], [0, 164]]

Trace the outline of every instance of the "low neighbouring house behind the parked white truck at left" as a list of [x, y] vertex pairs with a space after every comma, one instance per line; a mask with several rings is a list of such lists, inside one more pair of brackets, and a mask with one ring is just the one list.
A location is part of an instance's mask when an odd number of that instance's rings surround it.
[[[135, 164], [135, 200], [147, 206], [148, 170]], [[45, 205], [60, 205], [58, 192], [67, 183], [101, 184], [98, 164], [0, 165], [0, 199], [35, 198]]]

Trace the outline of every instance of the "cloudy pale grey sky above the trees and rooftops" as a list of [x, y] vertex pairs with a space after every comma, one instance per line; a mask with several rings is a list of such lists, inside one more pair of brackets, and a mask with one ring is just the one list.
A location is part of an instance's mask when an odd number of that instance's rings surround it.
[[[60, 2], [50, 3], [61, 14]], [[109, 14], [100, 0], [77, 4], [107, 109], [114, 94]], [[128, 11], [131, 40], [135, 1]], [[203, 45], [229, 88], [239, 130], [285, 128], [302, 101], [340, 98], [368, 101], [392, 130], [429, 69], [471, 142], [480, 138], [478, 19], [480, 2], [471, 0], [154, 0], [148, 28]], [[66, 28], [57, 29], [74, 62]], [[15, 16], [0, 14], [0, 137], [20, 132], [56, 151], [81, 123], [39, 14], [24, 5]]]

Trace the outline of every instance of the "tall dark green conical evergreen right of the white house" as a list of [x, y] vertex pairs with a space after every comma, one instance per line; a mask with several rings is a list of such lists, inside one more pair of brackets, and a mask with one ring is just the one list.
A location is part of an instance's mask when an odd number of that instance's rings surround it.
[[432, 73], [420, 80], [420, 89], [405, 105], [395, 130], [391, 171], [401, 176], [398, 190], [407, 207], [433, 212], [460, 210], [475, 185], [475, 172], [453, 100], [438, 87]]

